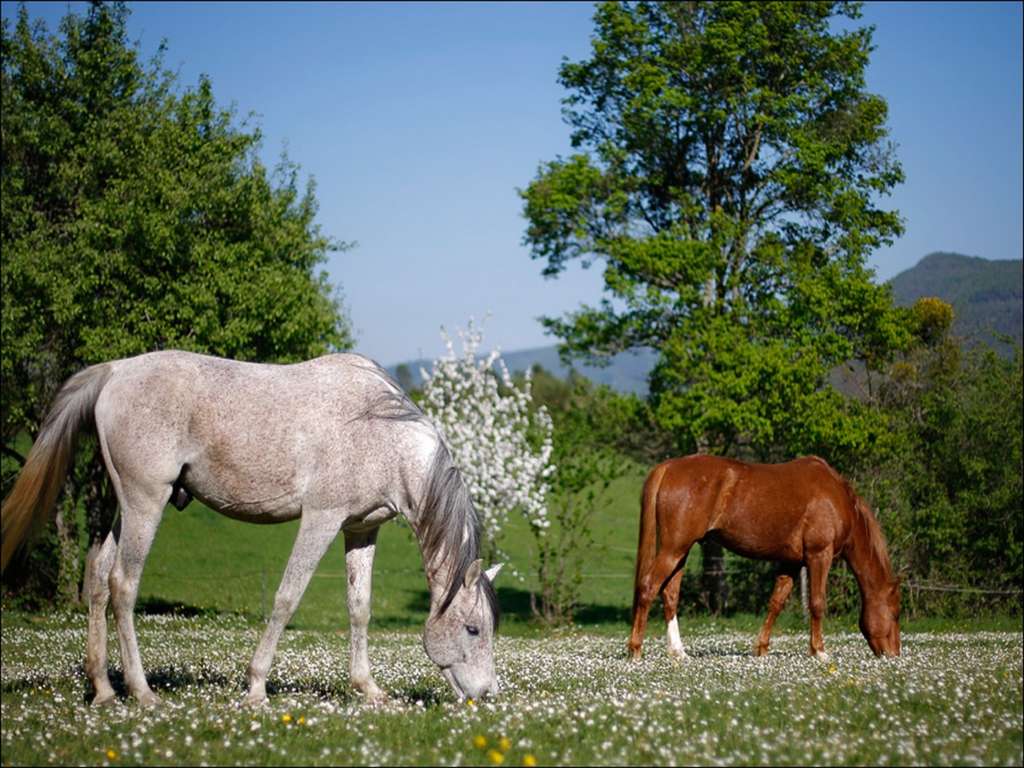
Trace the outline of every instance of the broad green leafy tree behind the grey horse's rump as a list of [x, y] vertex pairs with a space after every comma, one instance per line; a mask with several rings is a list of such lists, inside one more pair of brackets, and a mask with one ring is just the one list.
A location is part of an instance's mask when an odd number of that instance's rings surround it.
[[[345, 247], [314, 224], [312, 182], [260, 163], [202, 78], [179, 91], [127, 40], [122, 3], [69, 13], [59, 34], [3, 20], [2, 421], [5, 484], [56, 389], [84, 366], [179, 348], [290, 361], [350, 345], [317, 271]], [[20, 440], [20, 442], [19, 442]], [[88, 452], [84, 452], [88, 454]], [[86, 455], [60, 506], [70, 561], [116, 502]], [[66, 589], [68, 585], [66, 585]]]

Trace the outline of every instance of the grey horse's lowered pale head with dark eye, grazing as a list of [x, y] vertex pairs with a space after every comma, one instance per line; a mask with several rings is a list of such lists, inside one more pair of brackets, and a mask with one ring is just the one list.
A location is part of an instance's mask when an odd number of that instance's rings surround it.
[[492, 582], [501, 567], [484, 571], [482, 561], [474, 560], [452, 601], [446, 607], [432, 605], [427, 618], [423, 646], [460, 699], [498, 693], [494, 655], [498, 603]]

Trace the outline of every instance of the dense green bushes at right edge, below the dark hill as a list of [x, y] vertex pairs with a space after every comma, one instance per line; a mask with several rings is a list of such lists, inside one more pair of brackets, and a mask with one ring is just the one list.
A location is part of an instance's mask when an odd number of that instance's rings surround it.
[[[919, 343], [880, 388], [890, 430], [858, 479], [916, 609], [972, 612], [987, 603], [1019, 610], [1021, 347], [1013, 359], [985, 346], [962, 350], [948, 335], [949, 305], [937, 299], [921, 299], [910, 313]], [[996, 594], [932, 591], [950, 587]]]

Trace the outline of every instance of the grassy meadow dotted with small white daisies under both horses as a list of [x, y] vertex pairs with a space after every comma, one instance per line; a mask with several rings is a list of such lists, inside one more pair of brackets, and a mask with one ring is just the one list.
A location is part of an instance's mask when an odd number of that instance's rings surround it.
[[[5, 614], [4, 765], [721, 765], [1022, 762], [1020, 632], [904, 632], [877, 659], [852, 632], [830, 660], [782, 632], [684, 624], [689, 658], [649, 637], [638, 663], [622, 632], [500, 635], [493, 700], [456, 701], [417, 633], [371, 633], [389, 700], [347, 686], [347, 637], [286, 632], [266, 708], [242, 705], [260, 626], [238, 614], [142, 615], [143, 662], [163, 702], [87, 705], [85, 622]], [[112, 641], [113, 678], [117, 651]]]

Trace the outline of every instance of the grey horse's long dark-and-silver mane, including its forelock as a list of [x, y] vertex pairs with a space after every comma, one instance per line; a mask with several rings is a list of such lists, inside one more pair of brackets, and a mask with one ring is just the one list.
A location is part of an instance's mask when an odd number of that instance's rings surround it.
[[[356, 418], [419, 422], [437, 431], [427, 415], [413, 402], [383, 368], [375, 362], [360, 368], [380, 377], [388, 386]], [[424, 562], [452, 563], [449, 566], [451, 581], [447, 592], [444, 593], [444, 599], [438, 609], [438, 613], [443, 613], [462, 587], [469, 566], [479, 556], [481, 526], [476, 507], [473, 506], [473, 500], [469, 495], [469, 486], [466, 485], [462, 472], [452, 459], [447, 444], [439, 432], [437, 437], [437, 449], [430, 460], [426, 487], [420, 498], [417, 532], [420, 546], [423, 548]], [[464, 531], [466, 541], [463, 541]], [[497, 631], [501, 610], [495, 586], [483, 574], [478, 585], [490, 608]]]

